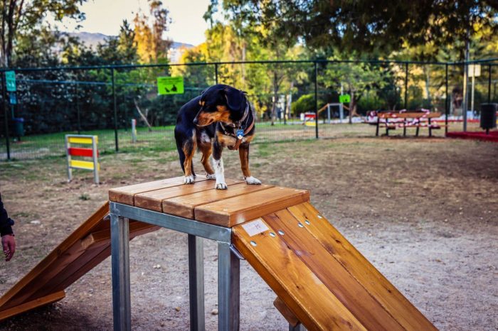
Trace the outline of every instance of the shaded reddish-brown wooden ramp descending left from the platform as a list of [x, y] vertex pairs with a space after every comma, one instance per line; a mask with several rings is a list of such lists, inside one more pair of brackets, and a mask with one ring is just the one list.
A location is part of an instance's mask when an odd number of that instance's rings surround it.
[[[65, 288], [110, 256], [109, 202], [0, 298], [0, 321], [65, 297]], [[132, 239], [157, 227], [131, 221]]]

